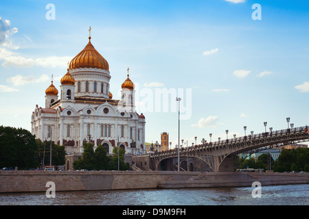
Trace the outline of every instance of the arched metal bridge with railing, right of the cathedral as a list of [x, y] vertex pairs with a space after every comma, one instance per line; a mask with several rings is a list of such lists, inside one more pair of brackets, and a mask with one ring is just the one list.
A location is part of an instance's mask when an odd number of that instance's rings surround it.
[[[256, 153], [258, 150], [265, 149], [266, 146], [306, 141], [309, 141], [308, 126], [296, 127], [181, 148], [179, 157], [180, 160], [185, 157], [201, 159], [213, 172], [233, 171], [234, 155]], [[178, 149], [153, 153], [150, 155], [150, 160], [155, 170], [158, 170], [163, 160], [174, 157], [178, 157]]]

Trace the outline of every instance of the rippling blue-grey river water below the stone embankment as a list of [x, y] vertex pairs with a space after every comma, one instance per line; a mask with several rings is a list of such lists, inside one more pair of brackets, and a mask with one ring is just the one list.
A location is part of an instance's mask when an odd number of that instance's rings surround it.
[[309, 184], [253, 187], [0, 194], [0, 205], [309, 205]]

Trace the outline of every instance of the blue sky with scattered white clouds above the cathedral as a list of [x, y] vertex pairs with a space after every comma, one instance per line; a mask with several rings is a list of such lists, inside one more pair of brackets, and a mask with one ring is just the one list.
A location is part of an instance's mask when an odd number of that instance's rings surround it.
[[[258, 3], [258, 5], [255, 5]], [[266, 0], [0, 1], [0, 125], [30, 130], [54, 75], [91, 42], [113, 99], [130, 68], [146, 142], [309, 124], [309, 3]], [[185, 145], [186, 146], [186, 145]]]

